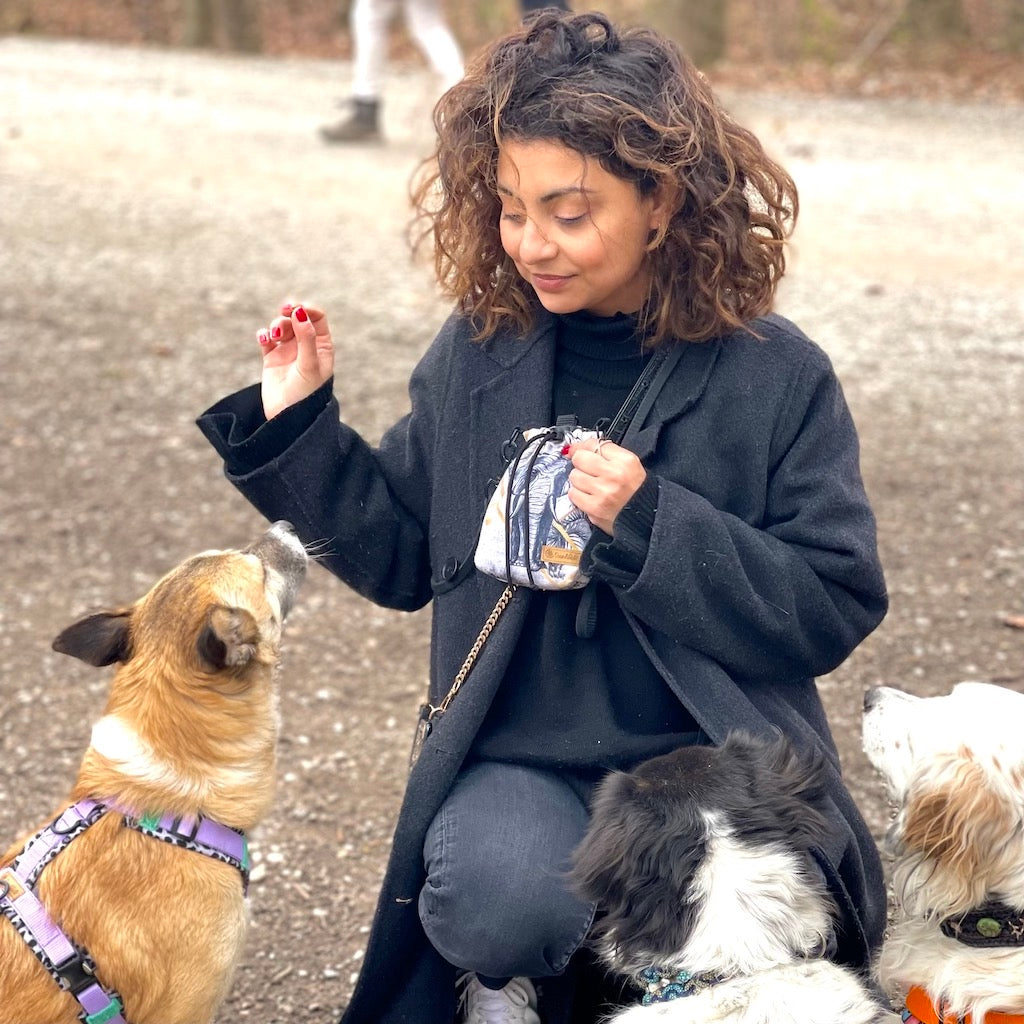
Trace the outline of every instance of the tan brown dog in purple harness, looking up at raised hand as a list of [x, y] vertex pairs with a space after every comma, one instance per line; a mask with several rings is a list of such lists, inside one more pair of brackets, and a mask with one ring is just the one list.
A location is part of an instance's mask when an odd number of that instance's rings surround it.
[[[53, 642], [117, 669], [71, 808], [0, 858], [0, 1024], [213, 1019], [242, 951], [242, 834], [273, 796], [271, 676], [306, 562], [292, 527], [275, 523], [243, 551], [188, 559], [135, 604]], [[37, 903], [88, 958], [54, 975], [73, 947], [45, 920], [27, 932]]]

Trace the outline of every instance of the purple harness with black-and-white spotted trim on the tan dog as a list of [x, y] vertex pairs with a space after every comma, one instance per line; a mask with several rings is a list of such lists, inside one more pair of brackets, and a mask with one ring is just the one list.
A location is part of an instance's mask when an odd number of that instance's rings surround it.
[[75, 996], [82, 1008], [79, 1020], [84, 1024], [126, 1024], [121, 998], [96, 980], [95, 963], [60, 930], [36, 896], [35, 886], [43, 868], [108, 811], [121, 814], [128, 828], [230, 864], [242, 874], [243, 892], [249, 887], [245, 835], [202, 814], [195, 818], [172, 814], [135, 818], [116, 804], [80, 800], [37, 833], [13, 863], [0, 869], [0, 913], [11, 922], [56, 984]]

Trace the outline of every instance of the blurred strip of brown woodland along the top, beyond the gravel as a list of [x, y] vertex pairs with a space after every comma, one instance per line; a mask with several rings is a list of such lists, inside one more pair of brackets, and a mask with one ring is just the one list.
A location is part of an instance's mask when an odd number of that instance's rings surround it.
[[[677, 39], [708, 70], [1020, 70], [1024, 0], [570, 0]], [[347, 57], [350, 0], [0, 0], [0, 33]], [[517, 0], [445, 0], [470, 53], [519, 18]], [[394, 28], [395, 55], [418, 59]], [[1024, 80], [1024, 74], [1021, 79]]]

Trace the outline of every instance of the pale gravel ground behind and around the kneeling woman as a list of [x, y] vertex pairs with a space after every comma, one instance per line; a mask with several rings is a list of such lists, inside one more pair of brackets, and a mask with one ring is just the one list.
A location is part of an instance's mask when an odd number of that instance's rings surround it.
[[[0, 38], [0, 826], [63, 797], [106, 676], [50, 640], [262, 523], [196, 415], [258, 368], [286, 296], [344, 325], [371, 438], [446, 311], [403, 246], [430, 82], [393, 68], [386, 145], [328, 148], [347, 65]], [[862, 436], [891, 612], [821, 681], [850, 784], [865, 687], [1024, 688], [1024, 108], [726, 92], [791, 168], [802, 223], [779, 309], [834, 357]], [[345, 1005], [400, 799], [428, 618], [313, 571], [282, 668], [276, 810], [219, 1020]]]

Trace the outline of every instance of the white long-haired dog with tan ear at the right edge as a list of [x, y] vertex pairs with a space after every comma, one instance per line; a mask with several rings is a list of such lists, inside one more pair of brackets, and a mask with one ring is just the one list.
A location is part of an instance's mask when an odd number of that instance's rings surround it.
[[899, 999], [921, 987], [976, 1022], [1024, 1013], [1024, 947], [973, 948], [939, 928], [992, 901], [1024, 911], [1024, 695], [974, 682], [936, 697], [878, 687], [864, 696], [863, 739], [897, 808], [884, 987]]

